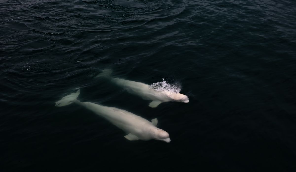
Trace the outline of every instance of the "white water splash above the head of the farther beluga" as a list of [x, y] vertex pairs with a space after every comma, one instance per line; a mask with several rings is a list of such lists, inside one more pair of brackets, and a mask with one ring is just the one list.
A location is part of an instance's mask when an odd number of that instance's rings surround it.
[[[166, 79], [166, 78], [165, 78]], [[162, 82], [156, 82], [149, 85], [150, 89], [154, 89], [155, 91], [169, 91], [170, 93], [180, 93], [181, 85], [178, 83], [171, 84], [165, 81], [163, 78]]]

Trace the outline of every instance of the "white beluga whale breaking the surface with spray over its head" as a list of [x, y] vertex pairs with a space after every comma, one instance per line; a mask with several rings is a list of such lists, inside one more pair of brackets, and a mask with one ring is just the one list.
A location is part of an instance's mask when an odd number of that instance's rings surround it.
[[189, 103], [188, 96], [184, 94], [180, 94], [170, 89], [155, 89], [148, 84], [129, 81], [122, 78], [113, 78], [111, 77], [112, 69], [106, 69], [102, 73], [100, 73], [97, 77], [108, 78], [110, 81], [115, 83], [116, 85], [126, 89], [129, 93], [138, 95], [145, 100], [152, 100], [149, 104], [150, 107], [157, 107], [159, 104], [169, 101], [176, 101], [182, 103]]

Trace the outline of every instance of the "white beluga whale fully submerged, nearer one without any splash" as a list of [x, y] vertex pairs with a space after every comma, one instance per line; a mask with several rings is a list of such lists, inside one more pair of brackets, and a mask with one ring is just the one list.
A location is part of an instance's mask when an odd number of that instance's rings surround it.
[[124, 136], [128, 140], [161, 140], [170, 142], [170, 135], [168, 132], [157, 128], [158, 120], [152, 119], [152, 122], [122, 109], [115, 107], [106, 107], [91, 102], [81, 102], [77, 100], [80, 94], [80, 90], [75, 93], [71, 93], [61, 100], [56, 102], [56, 106], [62, 107], [71, 103], [76, 103], [86, 109], [93, 111], [99, 116], [107, 119], [109, 122], [128, 133]]

